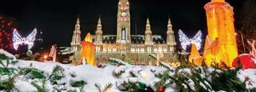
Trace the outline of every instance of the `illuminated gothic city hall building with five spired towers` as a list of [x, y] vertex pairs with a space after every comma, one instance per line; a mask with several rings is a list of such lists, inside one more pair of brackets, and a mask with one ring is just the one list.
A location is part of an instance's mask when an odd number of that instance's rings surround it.
[[[172, 56], [176, 53], [176, 42], [170, 19], [166, 27], [167, 37], [164, 40], [161, 35], [152, 34], [150, 20], [147, 18], [145, 35], [131, 35], [129, 1], [119, 0], [117, 34], [103, 34], [101, 18], [98, 19], [95, 35], [93, 35], [94, 45], [96, 46], [96, 62], [107, 63], [108, 58], [120, 58], [129, 59], [130, 63], [135, 65], [157, 65], [156, 60], [150, 57], [149, 54], [159, 53], [164, 55], [167, 62], [172, 62], [174, 60]], [[80, 29], [74, 34], [80, 35], [79, 32]], [[73, 39], [76, 35], [73, 35]], [[78, 38], [77, 40], [81, 42], [81, 39]], [[80, 44], [73, 44], [72, 46], [72, 42], [71, 50], [79, 54], [79, 49], [76, 50], [75, 48]]]

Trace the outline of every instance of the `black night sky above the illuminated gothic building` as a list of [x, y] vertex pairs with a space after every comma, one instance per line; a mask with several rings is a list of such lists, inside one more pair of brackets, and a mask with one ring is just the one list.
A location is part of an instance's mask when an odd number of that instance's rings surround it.
[[[227, 0], [234, 12], [244, 0]], [[147, 16], [153, 34], [166, 38], [168, 16], [177, 36], [182, 29], [189, 37], [198, 30], [206, 34], [206, 13], [203, 6], [210, 0], [130, 0], [131, 34], [144, 34]], [[85, 34], [94, 34], [98, 17], [102, 18], [103, 34], [116, 34], [118, 0], [9, 0], [1, 2], [0, 14], [17, 18], [18, 30], [27, 35], [34, 27], [42, 30], [44, 46], [57, 43], [70, 46], [76, 19], [80, 18], [82, 39]], [[178, 37], [176, 37], [178, 39]]]

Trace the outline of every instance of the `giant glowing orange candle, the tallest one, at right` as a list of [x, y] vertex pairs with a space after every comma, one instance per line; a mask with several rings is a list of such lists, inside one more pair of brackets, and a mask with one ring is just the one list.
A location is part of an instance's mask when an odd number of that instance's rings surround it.
[[[211, 0], [205, 6], [208, 26], [208, 35], [211, 41], [218, 38], [218, 51], [215, 58], [221, 58], [226, 66], [232, 66], [234, 58], [238, 56], [237, 44], [234, 35], [233, 7], [225, 0]], [[209, 54], [205, 54], [208, 55]], [[206, 59], [215, 59], [207, 57]]]

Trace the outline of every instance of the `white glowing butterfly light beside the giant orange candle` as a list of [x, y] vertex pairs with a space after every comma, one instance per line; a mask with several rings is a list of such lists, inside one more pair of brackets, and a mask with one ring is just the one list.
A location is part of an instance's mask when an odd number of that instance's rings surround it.
[[201, 30], [198, 31], [197, 34], [195, 34], [194, 38], [187, 38], [186, 35], [182, 32], [182, 30], [178, 30], [178, 36], [179, 41], [182, 44], [182, 49], [186, 50], [186, 46], [189, 46], [190, 44], [194, 43], [195, 46], [197, 46], [198, 50], [201, 48], [201, 42], [202, 42], [202, 32]]

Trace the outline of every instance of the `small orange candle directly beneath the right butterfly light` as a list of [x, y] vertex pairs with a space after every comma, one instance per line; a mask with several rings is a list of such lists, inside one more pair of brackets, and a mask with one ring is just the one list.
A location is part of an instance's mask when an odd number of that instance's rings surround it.
[[197, 66], [201, 66], [202, 65], [202, 60], [203, 60], [203, 58], [199, 54], [197, 46], [195, 46], [195, 44], [192, 44], [190, 57], [189, 57], [189, 62], [194, 63]]

